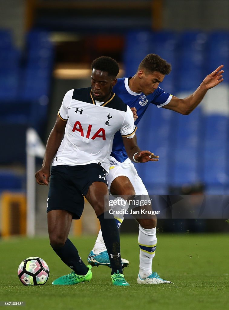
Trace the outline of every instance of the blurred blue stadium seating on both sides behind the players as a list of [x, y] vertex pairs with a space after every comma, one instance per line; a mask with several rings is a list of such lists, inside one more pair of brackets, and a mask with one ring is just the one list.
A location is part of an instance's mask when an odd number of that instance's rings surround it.
[[[1, 152], [2, 165], [25, 163], [26, 128], [32, 126], [42, 135], [46, 127], [55, 57], [49, 36], [48, 32], [32, 30], [19, 51], [11, 33], [0, 30], [0, 130], [7, 132], [3, 145], [11, 140]], [[229, 33], [130, 31], [123, 52], [125, 75], [133, 75], [148, 53], [159, 54], [172, 64], [161, 88], [185, 97], [218, 65], [228, 68]], [[137, 169], [150, 194], [167, 194], [170, 186], [197, 182], [205, 185], [206, 193], [229, 193], [228, 97], [229, 75], [225, 70], [222, 85], [208, 92], [189, 116], [149, 107], [137, 131], [138, 143], [159, 155], [160, 161], [138, 165]], [[4, 173], [0, 172], [0, 177]], [[20, 183], [15, 182], [12, 184]]]

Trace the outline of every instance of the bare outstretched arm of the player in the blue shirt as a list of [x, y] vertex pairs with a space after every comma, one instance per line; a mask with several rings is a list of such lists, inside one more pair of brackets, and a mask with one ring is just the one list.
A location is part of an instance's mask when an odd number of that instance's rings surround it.
[[179, 99], [173, 96], [170, 102], [163, 106], [163, 108], [173, 110], [183, 115], [190, 114], [197, 107], [197, 105], [200, 104], [206, 92], [223, 81], [222, 73], [224, 71], [222, 68], [223, 65], [219, 66], [212, 73], [207, 75], [193, 94], [184, 99]]

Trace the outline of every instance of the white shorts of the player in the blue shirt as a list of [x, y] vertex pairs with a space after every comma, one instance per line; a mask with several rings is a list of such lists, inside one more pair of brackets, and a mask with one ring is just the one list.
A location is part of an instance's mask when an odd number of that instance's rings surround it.
[[127, 158], [124, 162], [118, 162], [112, 156], [109, 156], [108, 159], [111, 164], [109, 174], [106, 176], [109, 190], [111, 188], [112, 181], [118, 176], [124, 175], [133, 185], [135, 195], [148, 195], [147, 189], [145, 188], [142, 179], [139, 177], [134, 164], [130, 161], [130, 158]]

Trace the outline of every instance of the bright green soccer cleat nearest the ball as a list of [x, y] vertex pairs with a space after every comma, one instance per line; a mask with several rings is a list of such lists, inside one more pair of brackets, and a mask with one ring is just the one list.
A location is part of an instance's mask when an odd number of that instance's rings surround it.
[[88, 265], [87, 268], [89, 269], [85, 276], [79, 276], [74, 271], [69, 273], [67, 276], [59, 277], [58, 279], [54, 280], [52, 284], [54, 285], [74, 285], [80, 282], [90, 281], [92, 278], [91, 272], [91, 265]]

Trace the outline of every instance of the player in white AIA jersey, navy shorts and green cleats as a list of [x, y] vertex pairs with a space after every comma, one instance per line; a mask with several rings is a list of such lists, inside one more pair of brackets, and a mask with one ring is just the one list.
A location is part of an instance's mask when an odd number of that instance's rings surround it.
[[92, 63], [91, 87], [66, 93], [47, 141], [42, 168], [35, 174], [40, 185], [48, 185], [51, 175], [47, 198], [50, 244], [73, 270], [53, 281], [54, 285], [73, 285], [90, 281], [92, 277], [91, 265], [83, 263], [76, 247], [68, 239], [72, 219], [81, 217], [83, 196], [100, 221], [110, 257], [113, 285], [129, 285], [122, 271], [116, 221], [106, 218], [108, 211], [104, 200], [108, 197], [106, 171], [110, 167], [108, 157], [115, 133], [120, 131], [128, 156], [133, 160], [157, 161], [158, 156], [140, 151], [136, 144], [134, 135], [137, 127], [133, 113], [112, 92], [118, 72], [115, 60], [99, 57]]

